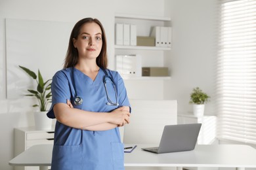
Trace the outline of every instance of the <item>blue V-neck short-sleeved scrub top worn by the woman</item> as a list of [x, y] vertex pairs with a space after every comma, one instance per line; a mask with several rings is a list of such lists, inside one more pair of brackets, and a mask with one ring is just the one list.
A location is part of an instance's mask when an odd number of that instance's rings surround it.
[[[129, 106], [123, 79], [116, 71], [106, 70], [116, 84], [119, 106], [106, 105], [108, 99], [104, 88], [104, 71], [100, 69], [95, 80], [91, 80], [78, 69], [74, 68], [76, 93], [83, 99], [81, 105], [74, 105], [74, 83], [72, 82], [72, 67], [58, 71], [53, 76], [53, 102], [47, 113], [54, 118], [53, 106], [56, 103], [66, 103], [69, 99], [74, 108], [93, 111], [111, 112], [117, 107]], [[108, 95], [115, 103], [114, 87], [107, 84]], [[121, 170], [123, 166], [123, 144], [118, 127], [107, 131], [88, 131], [65, 126], [56, 121], [52, 170]]]

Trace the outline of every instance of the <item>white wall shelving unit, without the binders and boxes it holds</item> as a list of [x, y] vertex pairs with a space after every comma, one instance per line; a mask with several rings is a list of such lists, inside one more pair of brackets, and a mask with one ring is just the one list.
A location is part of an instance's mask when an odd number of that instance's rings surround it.
[[[154, 26], [170, 27], [171, 18], [118, 13], [115, 14], [115, 24], [117, 23], [136, 25], [137, 36], [148, 37]], [[169, 50], [171, 50], [171, 47], [115, 45], [116, 56], [131, 54], [141, 56], [141, 65], [139, 67], [167, 67], [165, 65], [165, 56], [168, 55], [165, 52]], [[169, 73], [169, 75], [171, 74]], [[125, 80], [169, 80], [170, 78], [171, 76], [123, 76]]]

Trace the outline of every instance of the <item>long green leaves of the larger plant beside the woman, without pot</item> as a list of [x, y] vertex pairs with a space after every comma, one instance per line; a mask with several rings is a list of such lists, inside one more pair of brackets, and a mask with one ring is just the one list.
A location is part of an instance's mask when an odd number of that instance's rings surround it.
[[21, 69], [23, 69], [28, 75], [30, 75], [36, 82], [37, 82], [37, 89], [36, 90], [30, 90], [28, 89], [28, 92], [30, 94], [27, 94], [26, 96], [32, 96], [36, 97], [38, 100], [39, 105], [33, 105], [33, 107], [39, 107], [40, 111], [46, 111], [47, 105], [51, 103], [52, 99], [52, 93], [51, 93], [51, 80], [49, 79], [47, 81], [43, 81], [43, 76], [41, 75], [39, 69], [38, 69], [38, 75], [36, 75], [33, 71], [26, 67], [22, 67], [19, 65]]

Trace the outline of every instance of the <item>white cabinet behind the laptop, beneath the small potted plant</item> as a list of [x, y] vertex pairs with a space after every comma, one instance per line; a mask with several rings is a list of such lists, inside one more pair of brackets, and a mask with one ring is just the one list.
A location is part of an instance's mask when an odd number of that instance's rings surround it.
[[216, 116], [196, 117], [192, 114], [178, 114], [178, 124], [201, 123], [198, 144], [212, 144], [216, 137]]

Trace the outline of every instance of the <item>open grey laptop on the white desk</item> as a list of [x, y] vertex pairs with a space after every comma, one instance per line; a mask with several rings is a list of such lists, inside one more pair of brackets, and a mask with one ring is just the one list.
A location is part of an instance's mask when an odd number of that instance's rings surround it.
[[142, 148], [156, 154], [194, 150], [202, 124], [167, 125], [158, 147]]

